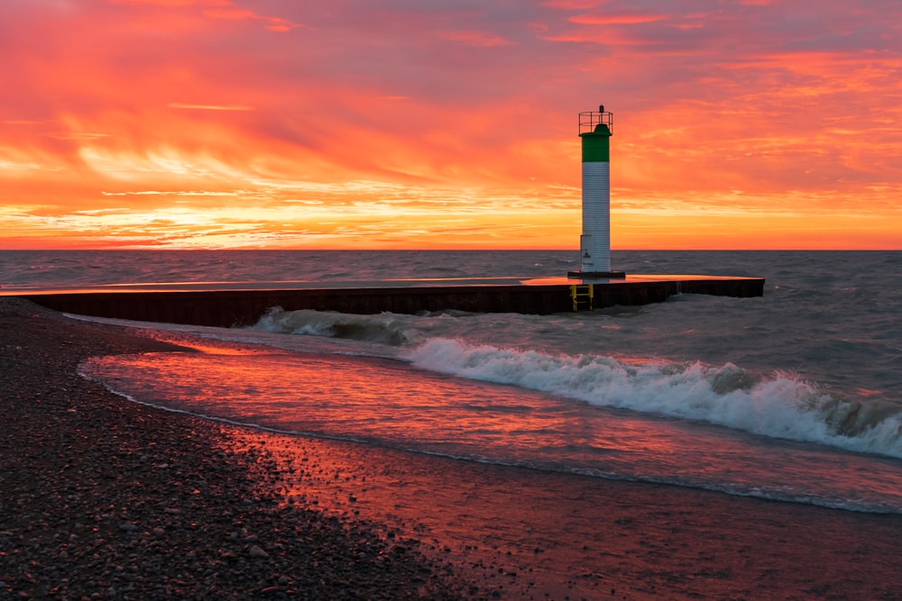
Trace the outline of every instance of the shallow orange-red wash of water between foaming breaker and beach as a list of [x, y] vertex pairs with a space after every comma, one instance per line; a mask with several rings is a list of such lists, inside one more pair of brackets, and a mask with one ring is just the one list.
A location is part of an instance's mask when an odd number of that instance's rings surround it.
[[587, 405], [397, 360], [207, 341], [194, 347], [90, 360], [84, 370], [152, 405], [281, 432], [902, 512], [902, 470], [893, 460]]

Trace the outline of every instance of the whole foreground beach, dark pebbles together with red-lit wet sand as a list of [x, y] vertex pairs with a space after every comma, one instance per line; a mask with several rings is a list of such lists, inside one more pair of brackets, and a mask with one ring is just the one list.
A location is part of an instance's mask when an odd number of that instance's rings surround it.
[[260, 433], [78, 378], [132, 330], [0, 332], [0, 599], [902, 597], [902, 516]]

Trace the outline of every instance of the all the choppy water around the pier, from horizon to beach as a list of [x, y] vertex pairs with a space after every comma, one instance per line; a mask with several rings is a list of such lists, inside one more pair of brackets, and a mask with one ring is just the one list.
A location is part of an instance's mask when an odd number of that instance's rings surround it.
[[[0, 285], [559, 276], [568, 251], [0, 252]], [[762, 298], [594, 313], [285, 313], [90, 360], [141, 402], [468, 460], [902, 513], [902, 252], [615, 252]]]

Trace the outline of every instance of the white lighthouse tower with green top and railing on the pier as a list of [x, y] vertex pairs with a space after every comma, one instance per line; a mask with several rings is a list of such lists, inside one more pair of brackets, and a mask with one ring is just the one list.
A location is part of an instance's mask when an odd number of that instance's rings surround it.
[[611, 270], [611, 136], [613, 114], [579, 114], [579, 137], [583, 144], [583, 233], [579, 237], [580, 270], [570, 278], [625, 278]]

